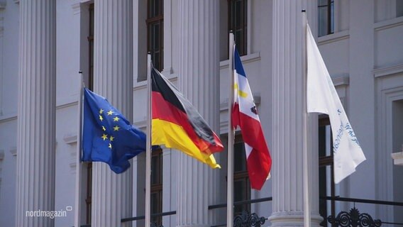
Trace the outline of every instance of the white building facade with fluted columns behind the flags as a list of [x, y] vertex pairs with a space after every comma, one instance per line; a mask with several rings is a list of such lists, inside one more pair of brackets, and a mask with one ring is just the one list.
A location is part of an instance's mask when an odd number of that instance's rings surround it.
[[[273, 160], [263, 189], [250, 189], [248, 135], [236, 134], [234, 199], [246, 202], [235, 214], [304, 226], [302, 9], [367, 157], [332, 184], [329, 119], [309, 116], [311, 226], [354, 206], [382, 226], [403, 223], [403, 166], [391, 157], [403, 152], [403, 1], [0, 0], [0, 226], [74, 226], [79, 70], [145, 131], [151, 52], [225, 144], [230, 30]], [[226, 150], [215, 156], [221, 170], [153, 152], [156, 226], [226, 226]], [[144, 153], [122, 175], [82, 167], [82, 226], [144, 226]]]

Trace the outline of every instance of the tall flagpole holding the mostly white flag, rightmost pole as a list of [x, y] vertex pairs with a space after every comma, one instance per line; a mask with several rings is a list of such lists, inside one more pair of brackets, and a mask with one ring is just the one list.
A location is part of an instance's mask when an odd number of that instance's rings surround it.
[[308, 149], [308, 112], [307, 112], [307, 11], [302, 9], [302, 23], [303, 23], [303, 45], [302, 45], [302, 91], [303, 94], [303, 187], [304, 187], [304, 226], [311, 226], [311, 204], [309, 200], [309, 149]]

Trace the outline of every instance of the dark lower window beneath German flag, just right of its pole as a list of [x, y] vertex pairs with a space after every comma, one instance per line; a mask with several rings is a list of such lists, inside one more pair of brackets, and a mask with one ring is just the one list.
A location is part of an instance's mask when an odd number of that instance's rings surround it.
[[[151, 214], [162, 213], [162, 150], [151, 155]], [[151, 222], [162, 225], [162, 216], [151, 217]]]

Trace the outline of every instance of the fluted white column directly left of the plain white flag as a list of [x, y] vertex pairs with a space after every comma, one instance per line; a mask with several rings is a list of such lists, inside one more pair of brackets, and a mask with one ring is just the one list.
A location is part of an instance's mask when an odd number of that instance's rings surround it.
[[[303, 117], [304, 26], [307, 10], [311, 29], [316, 31], [316, 1], [273, 1], [273, 144], [272, 226], [304, 226]], [[319, 179], [317, 118], [309, 123], [309, 173], [311, 226], [319, 226]], [[316, 132], [316, 133], [314, 133]], [[316, 139], [315, 139], [316, 137]], [[316, 142], [315, 142], [316, 141]]]

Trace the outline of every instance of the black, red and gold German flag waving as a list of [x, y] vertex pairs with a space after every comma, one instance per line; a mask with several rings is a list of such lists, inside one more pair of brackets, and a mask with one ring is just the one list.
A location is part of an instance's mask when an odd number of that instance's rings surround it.
[[152, 145], [165, 145], [220, 168], [213, 153], [223, 150], [219, 137], [192, 104], [158, 70], [152, 79]]

